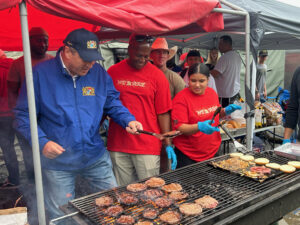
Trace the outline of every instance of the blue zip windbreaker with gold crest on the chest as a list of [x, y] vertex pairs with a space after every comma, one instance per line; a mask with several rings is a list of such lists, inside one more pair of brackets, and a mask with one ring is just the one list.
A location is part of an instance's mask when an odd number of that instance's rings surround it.
[[[123, 128], [135, 120], [119, 100], [111, 77], [97, 63], [73, 82], [58, 51], [54, 59], [34, 67], [33, 81], [40, 151], [48, 141], [65, 149], [55, 159], [41, 154], [45, 169], [76, 170], [96, 162], [106, 151], [99, 135], [104, 114]], [[14, 112], [15, 128], [31, 143], [25, 82]]]

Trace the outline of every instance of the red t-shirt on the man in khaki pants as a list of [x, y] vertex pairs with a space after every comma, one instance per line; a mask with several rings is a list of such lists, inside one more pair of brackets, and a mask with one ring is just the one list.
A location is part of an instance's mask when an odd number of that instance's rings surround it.
[[[151, 63], [141, 70], [129, 66], [127, 60], [111, 66], [107, 71], [113, 79], [125, 107], [141, 122], [144, 130], [160, 133], [158, 114], [171, 110], [169, 83], [165, 75]], [[159, 155], [161, 141], [146, 134], [132, 135], [111, 121], [107, 149], [132, 154]]]

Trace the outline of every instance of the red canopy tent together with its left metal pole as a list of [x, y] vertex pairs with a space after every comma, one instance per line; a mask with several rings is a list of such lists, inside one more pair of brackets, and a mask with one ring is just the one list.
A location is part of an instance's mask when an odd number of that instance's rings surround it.
[[[201, 31], [215, 31], [223, 28], [222, 15], [218, 13], [210, 14], [215, 7], [219, 6], [217, 0], [192, 0], [188, 3], [186, 1], [172, 0], [163, 2], [158, 0], [152, 0], [151, 2], [147, 0], [28, 0], [27, 2], [41, 11], [56, 16], [79, 20], [95, 26], [105, 26], [140, 34], [159, 35], [187, 27], [189, 24], [194, 24], [195, 29]], [[19, 35], [15, 33], [20, 27], [18, 26], [18, 22], [16, 22], [19, 21], [19, 19], [16, 16], [13, 17], [14, 14], [12, 13], [12, 11], [16, 9], [7, 9], [18, 3], [20, 3], [19, 15], [21, 18], [21, 32]], [[195, 5], [198, 7], [195, 7]], [[66, 37], [67, 33], [70, 32], [70, 29], [72, 30], [88, 25], [78, 24], [75, 21], [66, 22], [55, 20], [55, 17], [49, 19], [48, 14], [45, 14], [43, 17], [39, 15], [40, 12], [38, 11], [34, 13], [35, 10], [33, 8], [31, 9], [31, 7], [29, 7], [28, 9], [30, 10], [29, 12], [27, 11], [25, 2], [21, 0], [9, 2], [0, 0], [0, 10], [4, 10], [1, 11], [3, 14], [0, 14], [2, 17], [0, 48], [3, 50], [20, 50], [22, 49], [20, 44], [22, 40], [38, 200], [38, 217], [39, 224], [44, 225], [46, 224], [46, 219], [34, 102], [35, 97], [32, 82], [27, 12], [28, 17], [31, 17], [29, 21], [34, 23], [34, 25], [31, 24], [31, 26], [42, 26], [50, 33], [51, 38], [55, 39], [57, 37], [57, 40], [60, 40], [56, 42], [59, 43], [59, 46], [55, 46], [55, 42], [52, 43], [50, 38], [50, 50], [56, 50], [60, 47], [62, 40]], [[18, 12], [15, 11], [15, 15], [18, 15]], [[214, 21], [213, 23], [211, 23], [212, 20]], [[62, 29], [60, 29], [61, 27]], [[60, 31], [56, 32], [57, 30]], [[95, 29], [93, 31], [95, 31]]]

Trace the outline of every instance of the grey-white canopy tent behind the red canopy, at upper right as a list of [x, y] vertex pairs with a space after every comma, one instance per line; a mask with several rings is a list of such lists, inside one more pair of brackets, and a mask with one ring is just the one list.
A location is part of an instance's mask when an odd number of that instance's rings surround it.
[[[227, 0], [246, 10], [250, 16], [251, 44], [255, 49], [287, 50], [300, 49], [300, 6], [282, 0]], [[228, 6], [221, 4], [223, 9]], [[218, 38], [230, 34], [233, 47], [245, 47], [245, 23], [241, 16], [224, 14], [224, 30], [221, 32], [173, 35], [168, 37], [171, 45], [189, 48], [210, 49], [216, 47]]]

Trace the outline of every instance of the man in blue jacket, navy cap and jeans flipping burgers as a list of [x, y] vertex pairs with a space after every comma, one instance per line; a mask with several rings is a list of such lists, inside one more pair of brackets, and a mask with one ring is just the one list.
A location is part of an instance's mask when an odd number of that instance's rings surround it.
[[[93, 190], [116, 186], [109, 153], [99, 135], [102, 116], [135, 134], [142, 125], [119, 100], [112, 79], [96, 60], [98, 38], [85, 29], [68, 34], [54, 59], [33, 70], [45, 204], [50, 219], [75, 196], [75, 178]], [[15, 127], [31, 142], [26, 86], [15, 108]]]

